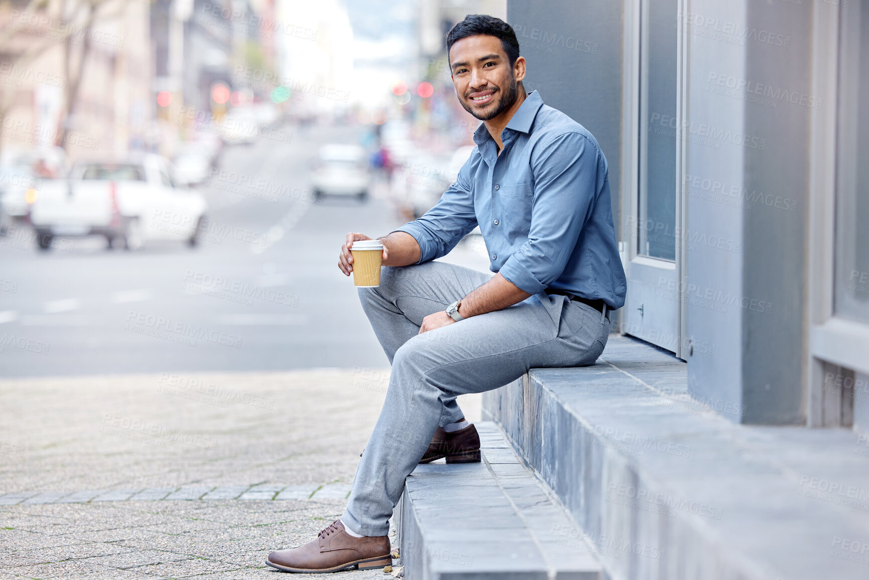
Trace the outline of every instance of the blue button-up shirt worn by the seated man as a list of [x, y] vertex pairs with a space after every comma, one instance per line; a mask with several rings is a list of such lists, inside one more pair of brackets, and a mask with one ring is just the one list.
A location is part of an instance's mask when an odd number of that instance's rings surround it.
[[480, 225], [489, 269], [521, 290], [547, 288], [625, 303], [607, 159], [585, 127], [536, 90], [501, 131], [504, 150], [481, 123], [477, 146], [431, 210], [396, 231], [420, 244], [420, 262], [448, 254]]

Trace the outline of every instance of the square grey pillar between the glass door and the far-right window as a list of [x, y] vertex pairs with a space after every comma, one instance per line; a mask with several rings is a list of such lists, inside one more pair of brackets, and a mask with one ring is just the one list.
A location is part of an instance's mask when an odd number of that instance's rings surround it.
[[688, 387], [741, 423], [805, 422], [812, 4], [696, 0], [686, 21], [687, 331], [716, 345]]

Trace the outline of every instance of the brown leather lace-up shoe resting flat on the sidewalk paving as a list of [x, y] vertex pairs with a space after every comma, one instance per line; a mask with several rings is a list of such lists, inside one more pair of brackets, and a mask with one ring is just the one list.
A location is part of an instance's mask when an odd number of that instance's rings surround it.
[[392, 564], [389, 538], [353, 537], [340, 519], [317, 534], [317, 539], [292, 550], [269, 554], [266, 563], [285, 572], [337, 572], [373, 570]]

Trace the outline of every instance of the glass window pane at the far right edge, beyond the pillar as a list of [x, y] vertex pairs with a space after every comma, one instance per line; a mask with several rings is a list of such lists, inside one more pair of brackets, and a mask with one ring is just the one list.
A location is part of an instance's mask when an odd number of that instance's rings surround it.
[[869, 323], [869, 7], [841, 15], [833, 310]]

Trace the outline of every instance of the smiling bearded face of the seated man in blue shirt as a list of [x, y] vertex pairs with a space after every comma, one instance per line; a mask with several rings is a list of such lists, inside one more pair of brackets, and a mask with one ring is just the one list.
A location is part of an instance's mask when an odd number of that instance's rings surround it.
[[450, 48], [449, 59], [455, 95], [468, 113], [488, 121], [515, 103], [525, 59], [517, 58], [511, 67], [499, 38], [462, 38]]

